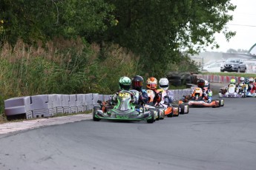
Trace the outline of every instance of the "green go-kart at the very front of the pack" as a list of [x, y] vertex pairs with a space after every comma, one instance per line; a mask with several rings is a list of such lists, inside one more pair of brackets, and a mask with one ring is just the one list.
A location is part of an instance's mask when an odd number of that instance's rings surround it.
[[148, 123], [154, 123], [156, 120], [153, 109], [146, 109], [142, 106], [139, 111], [131, 103], [133, 94], [127, 90], [118, 93], [117, 103], [110, 101], [97, 101], [99, 105], [93, 107], [93, 120], [146, 120]]

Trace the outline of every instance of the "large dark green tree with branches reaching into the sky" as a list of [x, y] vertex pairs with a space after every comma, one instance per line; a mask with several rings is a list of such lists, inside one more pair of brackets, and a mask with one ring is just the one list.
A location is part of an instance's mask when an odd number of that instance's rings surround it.
[[193, 54], [211, 44], [218, 47], [214, 33], [223, 31], [227, 39], [234, 35], [225, 27], [232, 20], [229, 10], [235, 9], [230, 0], [106, 1], [115, 5], [119, 23], [109, 28], [105, 40], [140, 54], [148, 70], [179, 61], [182, 50]]

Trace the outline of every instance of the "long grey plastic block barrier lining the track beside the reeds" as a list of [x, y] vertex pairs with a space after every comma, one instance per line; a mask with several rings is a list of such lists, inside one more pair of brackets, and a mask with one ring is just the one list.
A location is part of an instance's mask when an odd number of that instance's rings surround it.
[[[174, 89], [174, 101], [191, 94], [191, 89]], [[24, 118], [49, 118], [57, 114], [85, 112], [98, 105], [97, 101], [108, 101], [111, 95], [98, 93], [76, 95], [34, 95], [10, 98], [4, 101], [4, 113], [7, 117], [24, 115]]]

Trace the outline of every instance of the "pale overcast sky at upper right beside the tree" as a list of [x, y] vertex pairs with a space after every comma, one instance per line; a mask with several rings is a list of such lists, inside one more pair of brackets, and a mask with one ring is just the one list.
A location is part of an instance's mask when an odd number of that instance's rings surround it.
[[226, 27], [237, 33], [229, 42], [224, 35], [215, 34], [220, 48], [214, 50], [207, 48], [207, 51], [249, 50], [256, 43], [256, 0], [231, 0], [231, 3], [237, 5], [237, 8], [231, 12], [233, 21], [229, 21]]

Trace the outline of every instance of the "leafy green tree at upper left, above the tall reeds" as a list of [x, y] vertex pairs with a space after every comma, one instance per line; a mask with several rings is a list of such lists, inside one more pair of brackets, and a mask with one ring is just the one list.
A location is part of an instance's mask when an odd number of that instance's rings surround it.
[[17, 38], [25, 42], [56, 36], [89, 38], [114, 24], [112, 10], [114, 6], [104, 0], [1, 0], [5, 37], [0, 41], [15, 44]]

